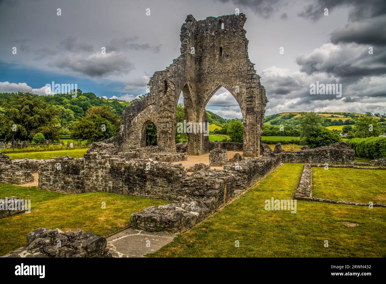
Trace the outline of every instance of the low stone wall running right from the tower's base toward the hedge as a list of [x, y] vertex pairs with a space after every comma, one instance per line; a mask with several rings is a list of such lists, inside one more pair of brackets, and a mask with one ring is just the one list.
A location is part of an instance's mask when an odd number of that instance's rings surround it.
[[308, 150], [281, 153], [283, 163], [354, 164], [355, 151], [349, 143], [339, 142]]

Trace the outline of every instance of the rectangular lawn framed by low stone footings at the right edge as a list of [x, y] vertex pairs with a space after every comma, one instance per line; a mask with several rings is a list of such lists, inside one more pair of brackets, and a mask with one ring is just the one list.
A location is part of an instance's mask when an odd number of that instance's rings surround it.
[[[313, 196], [362, 203], [386, 203], [384, 170], [312, 168]], [[385, 208], [386, 209], [386, 208]], [[386, 216], [386, 211], [385, 211]]]

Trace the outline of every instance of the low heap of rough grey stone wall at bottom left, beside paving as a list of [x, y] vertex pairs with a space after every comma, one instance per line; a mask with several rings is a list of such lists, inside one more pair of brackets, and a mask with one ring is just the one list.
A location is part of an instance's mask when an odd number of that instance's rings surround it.
[[111, 257], [107, 241], [81, 230], [39, 228], [27, 235], [27, 246], [5, 257]]

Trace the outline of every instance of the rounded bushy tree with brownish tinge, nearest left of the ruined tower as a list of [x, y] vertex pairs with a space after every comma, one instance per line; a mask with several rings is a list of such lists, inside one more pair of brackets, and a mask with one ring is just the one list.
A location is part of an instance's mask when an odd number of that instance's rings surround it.
[[91, 107], [85, 117], [74, 122], [71, 138], [87, 140], [89, 143], [102, 141], [117, 135], [120, 119], [108, 105]]

